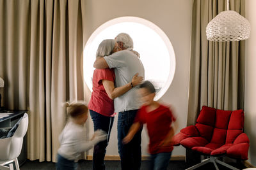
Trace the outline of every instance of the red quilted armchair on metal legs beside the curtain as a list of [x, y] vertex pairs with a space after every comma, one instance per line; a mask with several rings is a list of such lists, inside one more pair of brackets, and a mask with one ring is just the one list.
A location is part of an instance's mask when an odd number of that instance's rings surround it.
[[230, 169], [237, 169], [216, 159], [228, 156], [234, 159], [248, 159], [249, 139], [243, 132], [243, 110], [225, 111], [203, 106], [195, 125], [181, 129], [173, 138], [174, 145], [182, 145], [210, 158], [188, 169], [196, 169], [208, 162], [219, 163]]

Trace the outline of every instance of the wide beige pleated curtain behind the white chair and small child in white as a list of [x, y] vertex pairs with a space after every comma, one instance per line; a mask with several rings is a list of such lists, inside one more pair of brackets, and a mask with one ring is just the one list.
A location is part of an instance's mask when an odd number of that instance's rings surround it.
[[0, 0], [4, 106], [28, 110], [28, 159], [56, 161], [64, 101], [84, 99], [83, 0]]

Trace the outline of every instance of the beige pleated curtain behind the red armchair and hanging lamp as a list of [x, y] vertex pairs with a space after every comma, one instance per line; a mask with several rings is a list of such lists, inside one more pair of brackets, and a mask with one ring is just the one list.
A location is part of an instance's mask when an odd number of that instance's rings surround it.
[[[206, 39], [207, 24], [225, 10], [226, 0], [193, 0], [188, 125], [195, 124], [204, 105], [224, 110], [244, 106], [244, 41]], [[244, 16], [244, 0], [230, 0], [230, 10]]]

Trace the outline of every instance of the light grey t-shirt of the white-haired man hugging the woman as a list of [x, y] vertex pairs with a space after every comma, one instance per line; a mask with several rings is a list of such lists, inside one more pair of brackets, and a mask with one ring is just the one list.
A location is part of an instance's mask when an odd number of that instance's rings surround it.
[[[122, 50], [104, 57], [109, 68], [115, 67], [115, 87], [126, 85], [134, 74], [145, 78], [145, 71], [141, 60], [130, 50]], [[138, 86], [132, 88], [122, 96], [114, 99], [115, 112], [136, 110], [140, 108]]]

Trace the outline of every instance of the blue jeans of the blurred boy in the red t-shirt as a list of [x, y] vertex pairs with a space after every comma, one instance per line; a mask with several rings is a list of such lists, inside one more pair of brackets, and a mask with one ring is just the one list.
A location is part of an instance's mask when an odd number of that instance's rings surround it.
[[170, 162], [172, 152], [163, 152], [150, 155], [150, 170], [166, 170]]

